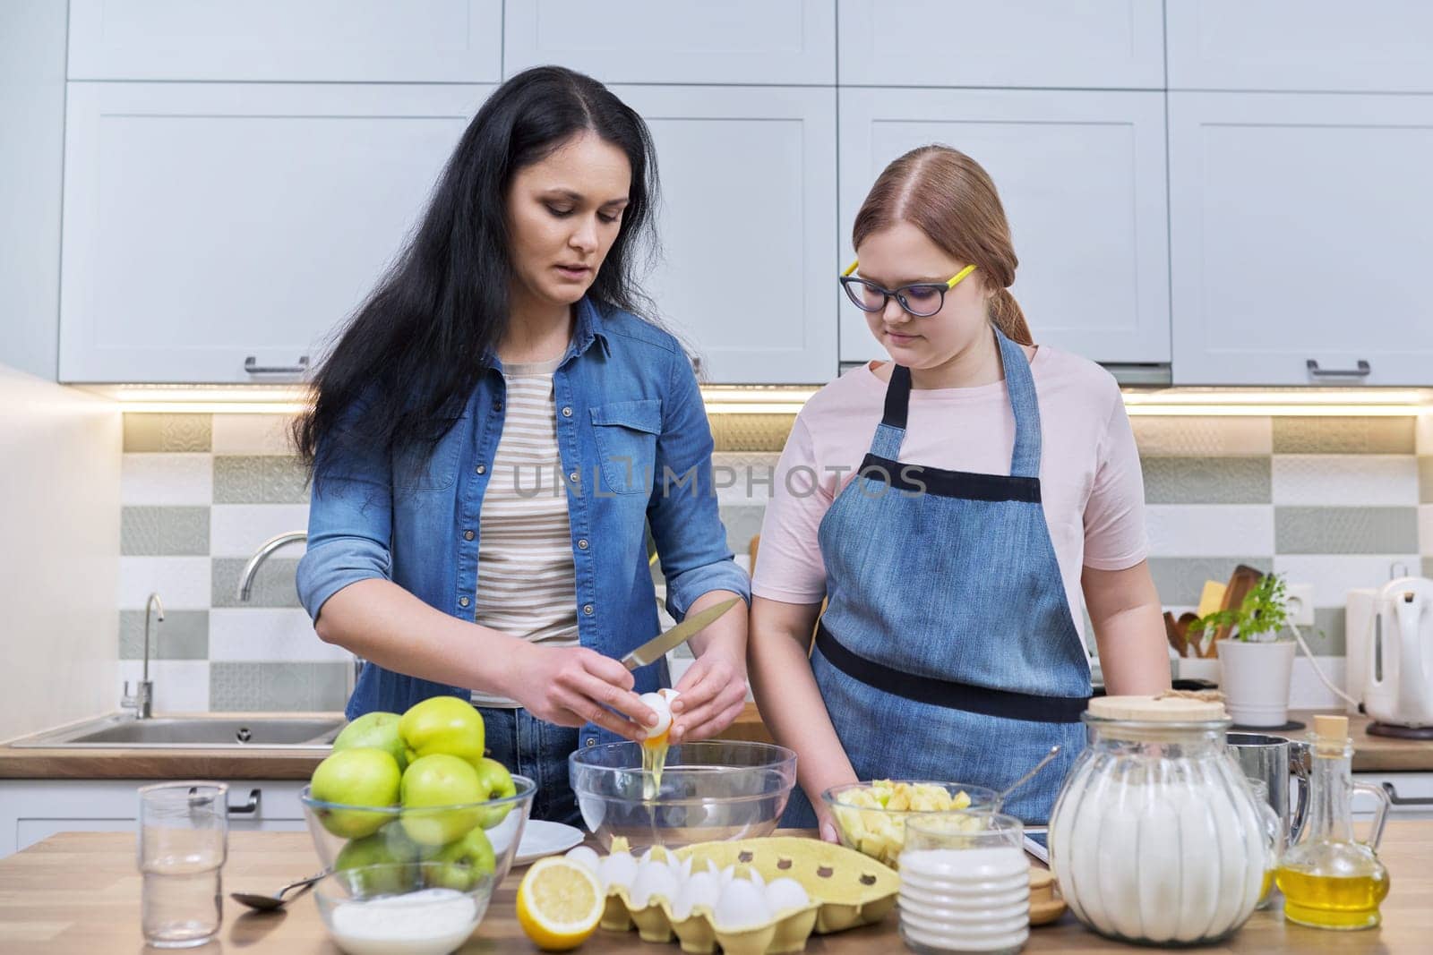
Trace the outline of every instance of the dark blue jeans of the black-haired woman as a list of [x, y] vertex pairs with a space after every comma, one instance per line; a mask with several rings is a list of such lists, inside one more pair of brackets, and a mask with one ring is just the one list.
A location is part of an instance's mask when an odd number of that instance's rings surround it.
[[582, 828], [567, 782], [567, 755], [577, 749], [577, 730], [545, 723], [523, 709], [483, 706], [477, 712], [487, 730], [487, 755], [537, 783], [532, 818]]

